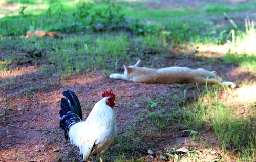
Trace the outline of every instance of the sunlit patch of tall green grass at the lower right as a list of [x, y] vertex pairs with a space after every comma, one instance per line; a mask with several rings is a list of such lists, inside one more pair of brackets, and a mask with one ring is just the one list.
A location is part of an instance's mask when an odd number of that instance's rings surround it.
[[[214, 131], [224, 151], [238, 149], [242, 153], [241, 158], [253, 161], [256, 132], [252, 123], [256, 122], [253, 115], [256, 109], [253, 103], [240, 108], [235, 105], [237, 103], [230, 105], [224, 101], [218, 96], [218, 91], [206, 91], [203, 98], [194, 103], [195, 110], [183, 109], [186, 126], [200, 130], [203, 125], [209, 125], [204, 129]], [[246, 113], [241, 115], [241, 109]]]

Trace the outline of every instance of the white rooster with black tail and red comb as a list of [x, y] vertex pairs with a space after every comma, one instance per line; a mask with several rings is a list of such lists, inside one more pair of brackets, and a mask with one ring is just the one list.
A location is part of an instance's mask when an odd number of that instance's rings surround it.
[[[115, 106], [115, 94], [111, 91], [102, 93], [103, 99], [98, 101], [85, 121], [82, 120], [82, 110], [76, 94], [67, 90], [64, 91], [61, 99], [60, 124], [66, 140], [80, 149], [83, 161], [90, 155], [101, 156], [113, 142], [116, 132], [116, 116], [112, 108]], [[89, 160], [88, 160], [89, 161]]]

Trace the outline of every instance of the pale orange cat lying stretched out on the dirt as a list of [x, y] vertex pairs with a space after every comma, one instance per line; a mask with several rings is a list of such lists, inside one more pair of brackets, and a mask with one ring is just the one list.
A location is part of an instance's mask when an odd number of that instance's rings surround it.
[[114, 73], [110, 75], [112, 79], [122, 79], [133, 82], [144, 83], [198, 83], [198, 84], [219, 84], [235, 88], [233, 82], [223, 82], [215, 71], [207, 71], [204, 68], [192, 69], [188, 67], [167, 67], [167, 68], [147, 68], [139, 67], [139, 60], [135, 65], [124, 67], [124, 74]]

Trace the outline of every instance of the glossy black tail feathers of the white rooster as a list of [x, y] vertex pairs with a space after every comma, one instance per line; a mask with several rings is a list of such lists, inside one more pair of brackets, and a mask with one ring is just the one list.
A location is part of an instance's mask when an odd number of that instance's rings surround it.
[[59, 127], [65, 131], [64, 136], [68, 139], [68, 132], [72, 125], [82, 121], [82, 110], [80, 102], [76, 94], [71, 91], [63, 91], [63, 96], [66, 97], [60, 100], [60, 123]]

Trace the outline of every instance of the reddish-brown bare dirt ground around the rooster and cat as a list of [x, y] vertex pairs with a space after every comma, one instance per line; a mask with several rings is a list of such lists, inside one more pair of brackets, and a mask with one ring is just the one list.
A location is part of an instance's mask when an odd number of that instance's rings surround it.
[[[152, 7], [152, 4], [148, 5]], [[159, 8], [159, 6], [156, 7]], [[167, 54], [147, 55], [141, 60], [153, 62], [154, 59], [155, 67], [189, 66], [215, 70], [224, 80], [234, 81], [237, 84], [238, 88], [232, 90], [231, 102], [239, 103], [240, 101], [237, 100], [246, 99], [245, 96], [248, 97], [248, 94], [252, 101], [256, 100], [256, 72], [231, 64], [223, 64], [221, 59], [223, 53], [208, 52], [204, 57], [205, 51], [202, 51], [202, 53], [186, 57], [178, 55], [180, 50], [185, 50], [186, 53], [192, 51], [174, 48]], [[3, 51], [0, 52], [0, 57], [2, 57], [1, 53], [3, 55]], [[133, 63], [135, 62], [136, 60], [133, 60]], [[99, 71], [84, 72], [62, 79], [55, 74], [48, 76], [40, 73], [39, 67], [43, 63], [44, 61], [38, 60], [37, 66], [33, 66], [30, 62], [13, 65], [15, 68], [11, 68], [7, 74], [1, 76], [0, 161], [81, 161], [78, 150], [66, 142], [63, 131], [59, 130], [60, 99], [63, 97], [62, 91], [67, 89], [76, 92], [83, 108], [84, 119], [93, 105], [101, 99], [102, 91], [112, 90], [118, 99], [114, 111], [119, 134], [129, 131], [129, 125], [134, 122], [134, 118], [147, 106], [148, 103], [141, 102], [141, 99], [156, 99], [157, 96], [162, 96], [164, 102], [167, 94], [179, 97], [177, 89], [187, 89], [186, 102], [189, 103], [197, 92], [195, 84], [133, 83], [112, 80], [108, 77], [109, 74]], [[121, 64], [118, 72], [122, 72]], [[247, 85], [242, 87], [245, 82]], [[199, 85], [198, 88], [204, 90], [205, 86]], [[126, 105], [131, 106], [127, 109]], [[148, 142], [146, 148], [141, 150], [143, 155], [141, 160], [164, 161], [160, 160], [159, 155], [165, 152], [167, 147], [178, 148], [178, 146], [196, 147], [201, 152], [199, 155], [201, 161], [216, 159], [216, 155], [209, 153], [209, 148], [218, 152], [222, 156], [222, 161], [235, 161], [238, 157], [236, 151], [222, 152], [220, 143], [212, 138], [212, 132], [200, 132], [204, 134], [206, 143], [206, 147], [202, 147], [191, 137], [181, 137], [182, 128], [175, 123], [168, 124], [168, 128], [160, 134], [153, 132], [151, 136], [145, 134], [145, 137], [141, 138], [143, 143]], [[111, 154], [115, 152], [115, 149], [117, 148], [111, 146], [107, 152]], [[156, 158], [152, 159], [146, 153], [147, 149], [152, 149]], [[138, 157], [134, 156], [134, 158]], [[183, 157], [180, 161], [190, 160]]]

